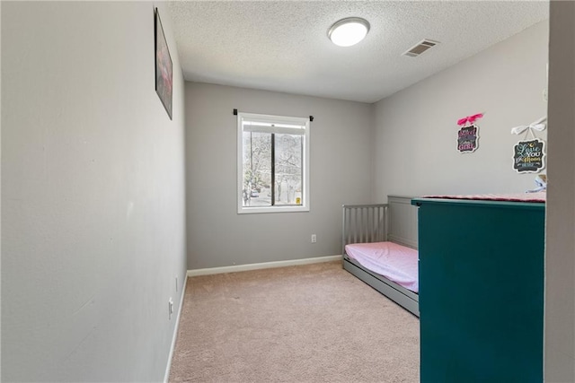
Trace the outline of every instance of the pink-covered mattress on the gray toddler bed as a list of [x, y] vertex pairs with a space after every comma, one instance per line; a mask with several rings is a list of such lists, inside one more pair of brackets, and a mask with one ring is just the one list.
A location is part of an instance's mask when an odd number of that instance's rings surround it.
[[368, 270], [384, 275], [411, 292], [419, 292], [417, 250], [394, 242], [376, 242], [346, 245], [345, 252]]

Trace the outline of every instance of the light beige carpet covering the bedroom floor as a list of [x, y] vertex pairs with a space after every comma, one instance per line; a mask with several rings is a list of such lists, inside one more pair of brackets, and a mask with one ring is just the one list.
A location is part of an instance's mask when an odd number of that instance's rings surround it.
[[170, 381], [418, 382], [419, 319], [341, 262], [188, 278]]

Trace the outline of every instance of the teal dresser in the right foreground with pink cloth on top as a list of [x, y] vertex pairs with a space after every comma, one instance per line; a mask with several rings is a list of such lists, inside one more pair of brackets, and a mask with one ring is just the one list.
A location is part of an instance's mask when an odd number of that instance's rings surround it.
[[420, 381], [543, 381], [544, 203], [417, 198]]

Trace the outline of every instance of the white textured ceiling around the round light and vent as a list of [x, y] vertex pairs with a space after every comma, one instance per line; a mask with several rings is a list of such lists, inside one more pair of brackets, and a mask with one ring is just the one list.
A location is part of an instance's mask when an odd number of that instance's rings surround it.
[[[169, 5], [186, 80], [375, 102], [549, 16], [546, 1], [182, 1]], [[327, 38], [367, 19], [358, 45]], [[403, 52], [439, 41], [420, 57]]]

